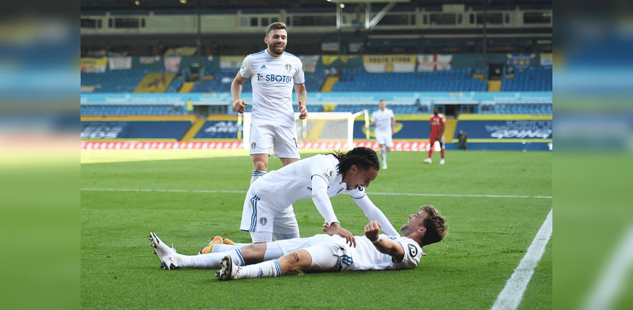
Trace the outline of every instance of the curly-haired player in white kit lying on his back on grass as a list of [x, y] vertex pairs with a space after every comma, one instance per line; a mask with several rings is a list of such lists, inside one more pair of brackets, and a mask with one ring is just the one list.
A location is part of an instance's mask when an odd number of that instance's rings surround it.
[[[441, 241], [448, 234], [446, 218], [431, 205], [409, 215], [400, 235], [380, 233], [377, 221], [365, 225], [365, 235], [356, 236], [356, 247], [332, 233], [329, 225], [307, 238], [229, 246], [229, 251], [186, 256], [167, 246], [151, 232], [149, 240], [163, 269], [222, 269], [219, 280], [280, 277], [293, 270], [327, 272], [345, 270], [411, 269], [426, 254], [422, 247]], [[219, 243], [219, 242], [218, 242]], [[227, 247], [223, 247], [227, 249]]]

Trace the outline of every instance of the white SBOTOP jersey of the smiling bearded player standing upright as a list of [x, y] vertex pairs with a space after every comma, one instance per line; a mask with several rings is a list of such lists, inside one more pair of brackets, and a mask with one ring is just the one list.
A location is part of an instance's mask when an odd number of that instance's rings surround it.
[[295, 84], [305, 82], [299, 57], [287, 52], [273, 57], [265, 49], [246, 56], [239, 75], [251, 78], [253, 124], [294, 126], [292, 89]]

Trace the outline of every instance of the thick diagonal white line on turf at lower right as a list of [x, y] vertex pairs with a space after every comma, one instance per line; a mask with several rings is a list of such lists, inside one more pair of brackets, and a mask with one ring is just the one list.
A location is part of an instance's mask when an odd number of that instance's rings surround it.
[[532, 275], [534, 274], [534, 268], [541, 260], [541, 256], [545, 251], [545, 246], [549, 242], [549, 237], [552, 235], [552, 210], [549, 210], [548, 217], [546, 218], [541, 229], [536, 233], [534, 241], [527, 248], [527, 253], [518, 263], [517, 269], [512, 273], [511, 277], [506, 282], [506, 286], [501, 290], [497, 300], [494, 302], [491, 310], [515, 310], [518, 304], [523, 298], [523, 292], [527, 287], [527, 283], [530, 282]]

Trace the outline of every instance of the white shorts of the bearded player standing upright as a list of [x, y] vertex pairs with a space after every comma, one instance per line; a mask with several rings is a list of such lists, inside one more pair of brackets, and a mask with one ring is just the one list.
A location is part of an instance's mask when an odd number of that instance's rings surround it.
[[251, 124], [251, 155], [270, 154], [274, 148], [275, 158], [297, 158], [297, 128], [273, 124]]

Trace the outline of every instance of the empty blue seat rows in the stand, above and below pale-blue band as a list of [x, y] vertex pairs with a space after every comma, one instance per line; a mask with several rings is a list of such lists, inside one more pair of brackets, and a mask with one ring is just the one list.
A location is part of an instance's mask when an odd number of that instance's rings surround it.
[[[480, 78], [472, 78], [480, 68], [453, 68], [449, 71], [411, 72], [411, 73], [368, 73], [365, 68], [342, 68], [340, 80], [337, 81], [332, 92], [486, 92], [487, 81]], [[82, 73], [81, 85], [94, 86], [93, 92], [98, 93], [131, 93], [148, 73], [164, 73], [161, 69], [128, 69], [112, 70], [104, 73]], [[329, 70], [317, 68], [314, 72], [305, 72], [305, 85], [308, 93], [320, 92], [323, 82], [327, 78]], [[552, 69], [536, 66], [523, 71], [509, 72], [503, 77], [501, 91], [505, 92], [532, 92], [551, 91]], [[230, 92], [231, 81], [237, 74], [237, 69], [205, 69], [203, 78], [195, 82], [191, 92]], [[166, 92], [179, 92], [184, 83], [182, 75], [173, 79], [166, 88]], [[87, 88], [89, 89], [89, 88]], [[242, 86], [242, 92], [252, 92], [250, 80]], [[251, 112], [252, 105], [246, 107], [246, 112]], [[308, 112], [325, 111], [322, 104], [309, 104]], [[373, 112], [377, 104], [337, 104], [328, 106], [332, 112], [359, 112], [367, 109]], [[428, 114], [430, 107], [427, 104], [389, 104], [389, 109], [395, 114]], [[226, 107], [210, 107], [210, 112], [225, 113]], [[298, 108], [294, 105], [294, 110]], [[515, 104], [485, 103], [479, 105], [481, 114], [551, 114], [552, 105], [533, 103]], [[81, 106], [81, 114], [89, 116], [120, 116], [120, 115], [182, 115], [187, 114], [184, 107], [171, 104], [84, 104]]]

